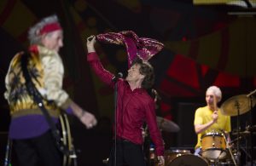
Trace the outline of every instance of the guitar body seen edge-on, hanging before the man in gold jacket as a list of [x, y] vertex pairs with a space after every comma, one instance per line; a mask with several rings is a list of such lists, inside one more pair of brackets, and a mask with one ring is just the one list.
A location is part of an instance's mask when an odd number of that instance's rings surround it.
[[74, 151], [73, 138], [71, 136], [70, 125], [69, 125], [66, 113], [61, 113], [59, 118], [61, 122], [61, 141], [65, 146], [67, 146], [68, 150], [72, 152], [72, 154], [63, 155], [62, 166], [71, 166], [72, 160], [74, 160], [75, 162], [77, 156]]

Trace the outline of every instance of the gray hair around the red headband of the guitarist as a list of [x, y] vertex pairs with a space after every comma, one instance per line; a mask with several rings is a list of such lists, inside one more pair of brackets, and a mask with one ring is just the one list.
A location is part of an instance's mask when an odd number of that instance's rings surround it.
[[30, 41], [30, 44], [40, 44], [42, 39], [40, 31], [42, 30], [42, 28], [48, 24], [55, 22], [59, 23], [59, 20], [57, 15], [54, 14], [49, 17], [45, 17], [44, 19], [40, 20], [35, 26], [32, 26], [28, 31], [28, 39]]

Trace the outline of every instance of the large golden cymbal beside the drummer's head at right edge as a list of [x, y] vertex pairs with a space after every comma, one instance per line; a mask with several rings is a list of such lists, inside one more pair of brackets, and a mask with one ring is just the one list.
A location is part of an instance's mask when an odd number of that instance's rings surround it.
[[[252, 105], [254, 106], [255, 103], [256, 101], [255, 101], [255, 98], [253, 97]], [[251, 101], [246, 94], [233, 96], [230, 99], [225, 100], [222, 106], [220, 107], [220, 111], [224, 115], [229, 115], [229, 116], [237, 116], [238, 109], [239, 109], [240, 115], [248, 112], [251, 109]]]

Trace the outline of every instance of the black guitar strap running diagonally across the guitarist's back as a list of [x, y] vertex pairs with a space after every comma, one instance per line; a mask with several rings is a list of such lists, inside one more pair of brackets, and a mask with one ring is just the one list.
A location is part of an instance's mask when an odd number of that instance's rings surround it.
[[58, 149], [64, 155], [69, 155], [71, 154], [71, 152], [69, 151], [67, 145], [64, 145], [63, 141], [61, 141], [60, 130], [57, 129], [54, 121], [49, 115], [48, 110], [44, 106], [43, 96], [38, 92], [38, 89], [35, 87], [34, 83], [32, 83], [32, 78], [30, 77], [30, 74], [27, 69], [27, 62], [29, 57], [30, 57], [29, 53], [24, 53], [22, 54], [22, 57], [21, 57], [21, 69], [23, 71], [23, 75], [26, 80], [26, 89], [28, 93], [32, 96], [33, 100], [36, 101], [36, 103], [38, 104], [38, 107], [43, 112], [46, 121], [49, 123], [49, 127], [51, 128], [51, 133], [55, 138]]

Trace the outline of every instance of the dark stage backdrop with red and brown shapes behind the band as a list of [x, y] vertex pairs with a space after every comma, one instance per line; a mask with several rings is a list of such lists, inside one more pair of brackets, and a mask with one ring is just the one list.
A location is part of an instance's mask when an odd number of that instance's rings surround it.
[[[44, 16], [57, 14], [64, 28], [61, 49], [66, 72], [64, 88], [79, 105], [95, 113], [100, 122], [96, 129], [87, 131], [72, 118], [74, 129], [80, 131], [74, 132], [78, 146], [81, 149], [90, 147], [89, 152], [81, 152], [88, 159], [79, 162], [100, 165], [102, 157], [108, 156], [111, 142], [113, 91], [90, 71], [85, 48], [86, 37], [107, 31], [131, 30], [139, 37], [151, 37], [165, 43], [165, 48], [150, 60], [156, 75], [154, 89], [160, 95], [157, 115], [178, 123], [183, 129], [178, 134], [163, 134], [167, 148], [194, 146], [194, 108], [205, 105], [207, 87], [214, 84], [223, 90], [224, 99], [220, 105], [232, 96], [248, 94], [256, 88], [256, 20], [255, 15], [249, 14], [252, 11], [254, 9], [236, 6], [195, 5], [189, 0], [2, 0], [2, 134], [8, 132], [9, 126], [9, 107], [3, 99], [9, 61], [17, 51], [27, 48], [26, 32], [30, 26]], [[126, 75], [124, 47], [97, 43], [96, 49], [103, 66], [113, 73]], [[183, 124], [181, 117], [187, 118], [189, 125]], [[236, 128], [235, 121], [232, 125]], [[88, 138], [88, 135], [93, 136]], [[193, 139], [186, 143], [179, 141], [178, 138], [187, 135]], [[101, 154], [98, 154], [99, 147], [95, 147], [98, 142], [101, 142]]]

